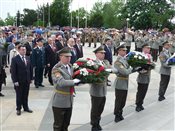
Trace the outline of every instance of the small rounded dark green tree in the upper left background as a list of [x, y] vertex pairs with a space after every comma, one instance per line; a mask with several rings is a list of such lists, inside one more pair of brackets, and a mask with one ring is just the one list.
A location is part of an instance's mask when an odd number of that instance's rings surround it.
[[37, 21], [37, 12], [32, 9], [24, 9], [24, 14], [22, 15], [22, 25], [31, 26]]

